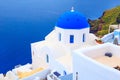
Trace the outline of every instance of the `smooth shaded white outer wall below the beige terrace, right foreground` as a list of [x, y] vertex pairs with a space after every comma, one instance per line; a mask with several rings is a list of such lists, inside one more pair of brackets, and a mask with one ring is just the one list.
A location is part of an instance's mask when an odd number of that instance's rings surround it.
[[[103, 48], [105, 49], [105, 47]], [[103, 52], [105, 50], [103, 50]], [[96, 54], [92, 53], [91, 55], [99, 55], [99, 51], [100, 50], [96, 50], [94, 51], [96, 52]], [[120, 79], [120, 71], [102, 65], [92, 60], [88, 56], [85, 56], [81, 52], [75, 51], [73, 54], [73, 80], [76, 80], [76, 72], [78, 72], [78, 80], [119, 80]]]

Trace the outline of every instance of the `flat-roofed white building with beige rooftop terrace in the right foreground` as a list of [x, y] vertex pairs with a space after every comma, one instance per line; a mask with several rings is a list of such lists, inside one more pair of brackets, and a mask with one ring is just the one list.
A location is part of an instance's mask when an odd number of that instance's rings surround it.
[[73, 80], [120, 80], [120, 47], [111, 43], [73, 53]]

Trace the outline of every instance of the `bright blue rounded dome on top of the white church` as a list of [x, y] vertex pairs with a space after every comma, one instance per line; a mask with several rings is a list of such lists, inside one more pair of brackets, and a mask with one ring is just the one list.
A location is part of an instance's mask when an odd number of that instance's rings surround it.
[[56, 26], [63, 29], [83, 29], [88, 28], [89, 23], [83, 14], [77, 11], [68, 11], [58, 19]]

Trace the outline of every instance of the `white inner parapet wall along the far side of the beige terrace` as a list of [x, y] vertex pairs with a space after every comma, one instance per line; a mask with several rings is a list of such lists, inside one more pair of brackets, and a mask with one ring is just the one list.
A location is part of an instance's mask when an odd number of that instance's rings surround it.
[[105, 43], [102, 45], [96, 45], [90, 48], [79, 50], [79, 52], [84, 53], [88, 57], [103, 56], [107, 52], [111, 52], [114, 56], [120, 56], [120, 47], [112, 43]]

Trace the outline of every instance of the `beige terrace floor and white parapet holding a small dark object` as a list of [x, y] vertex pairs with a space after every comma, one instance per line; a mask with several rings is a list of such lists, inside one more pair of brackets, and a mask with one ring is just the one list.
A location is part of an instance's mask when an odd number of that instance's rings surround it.
[[76, 52], [81, 54], [81, 56], [84, 55], [85, 59], [91, 58], [91, 62], [96, 61], [97, 63], [102, 64], [103, 67], [108, 66], [120, 71], [120, 46], [105, 43], [77, 50]]

